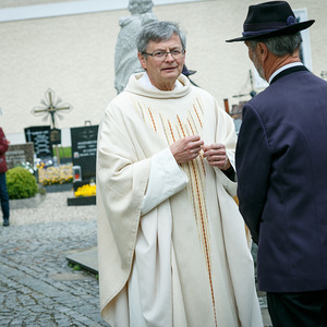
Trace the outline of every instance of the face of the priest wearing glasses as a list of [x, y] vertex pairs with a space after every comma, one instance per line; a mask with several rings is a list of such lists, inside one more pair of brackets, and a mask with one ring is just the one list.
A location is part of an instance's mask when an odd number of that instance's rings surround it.
[[[146, 52], [154, 51], [170, 52], [173, 50], [182, 50], [182, 43], [178, 35], [173, 34], [169, 40], [160, 43], [150, 41]], [[150, 82], [161, 90], [171, 90], [174, 87], [174, 82], [182, 73], [185, 57], [174, 59], [170, 53], [167, 55], [164, 61], [156, 61], [152, 56], [144, 57], [138, 53], [140, 62], [143, 69], [146, 70]]]

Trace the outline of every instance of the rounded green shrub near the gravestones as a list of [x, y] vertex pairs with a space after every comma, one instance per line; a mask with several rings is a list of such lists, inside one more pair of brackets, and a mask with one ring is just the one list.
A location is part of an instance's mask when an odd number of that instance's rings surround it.
[[37, 193], [35, 177], [23, 167], [9, 169], [5, 179], [10, 199], [32, 197]]

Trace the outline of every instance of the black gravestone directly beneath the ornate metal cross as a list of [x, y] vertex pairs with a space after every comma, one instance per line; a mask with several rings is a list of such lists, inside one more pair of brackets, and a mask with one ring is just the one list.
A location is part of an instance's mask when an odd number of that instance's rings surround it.
[[37, 158], [52, 158], [52, 145], [50, 142], [50, 126], [32, 126], [24, 129], [26, 142], [34, 143]]

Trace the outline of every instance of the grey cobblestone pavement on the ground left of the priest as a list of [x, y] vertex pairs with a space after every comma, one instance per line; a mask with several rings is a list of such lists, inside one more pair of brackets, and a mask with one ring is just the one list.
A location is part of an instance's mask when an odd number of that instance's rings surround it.
[[65, 258], [97, 242], [96, 207], [68, 207], [70, 195], [49, 193], [0, 227], [0, 326], [108, 326], [96, 276], [73, 271]]

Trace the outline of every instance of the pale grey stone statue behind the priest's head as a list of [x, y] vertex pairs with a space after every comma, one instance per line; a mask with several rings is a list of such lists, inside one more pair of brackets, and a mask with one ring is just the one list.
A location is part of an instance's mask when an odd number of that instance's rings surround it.
[[157, 21], [152, 12], [153, 7], [152, 0], [130, 0], [129, 11], [132, 15], [119, 20], [121, 29], [114, 52], [114, 88], [118, 94], [125, 88], [131, 74], [143, 71], [137, 58], [135, 39], [143, 25]]

